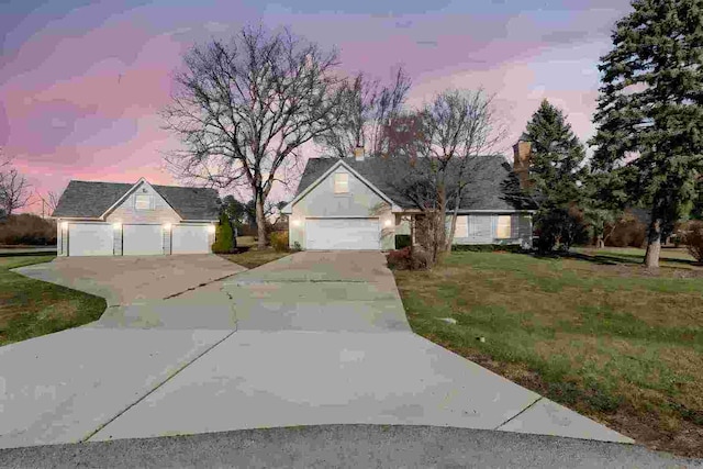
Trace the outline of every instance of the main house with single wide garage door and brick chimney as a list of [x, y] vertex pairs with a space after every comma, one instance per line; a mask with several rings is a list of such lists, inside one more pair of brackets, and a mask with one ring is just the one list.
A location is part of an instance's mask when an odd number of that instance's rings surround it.
[[[514, 197], [515, 187], [521, 187], [517, 174], [501, 155], [479, 158], [476, 182], [459, 205], [453, 242], [531, 247], [535, 205]], [[517, 146], [515, 161], [520, 163]], [[394, 249], [395, 235], [410, 234], [408, 220], [414, 223], [422, 212], [393, 191], [397, 185], [389, 178], [394, 175], [388, 172], [379, 171], [360, 150], [354, 158], [310, 158], [295, 197], [282, 210], [289, 215], [290, 246]]]

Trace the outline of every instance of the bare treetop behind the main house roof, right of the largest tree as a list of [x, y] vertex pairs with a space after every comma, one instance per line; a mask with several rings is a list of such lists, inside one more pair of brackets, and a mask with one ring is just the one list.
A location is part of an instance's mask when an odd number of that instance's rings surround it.
[[356, 147], [378, 154], [382, 148], [383, 126], [401, 113], [410, 86], [410, 77], [403, 67], [399, 67], [393, 82], [384, 87], [378, 79], [357, 74], [342, 90], [337, 124], [315, 138], [315, 143], [339, 158], [349, 157]]

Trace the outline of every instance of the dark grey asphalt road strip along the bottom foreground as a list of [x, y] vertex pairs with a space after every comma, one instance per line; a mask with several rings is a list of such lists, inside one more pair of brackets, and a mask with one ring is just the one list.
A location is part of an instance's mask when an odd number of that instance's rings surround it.
[[703, 468], [636, 445], [412, 425], [321, 425], [0, 450], [3, 468]]

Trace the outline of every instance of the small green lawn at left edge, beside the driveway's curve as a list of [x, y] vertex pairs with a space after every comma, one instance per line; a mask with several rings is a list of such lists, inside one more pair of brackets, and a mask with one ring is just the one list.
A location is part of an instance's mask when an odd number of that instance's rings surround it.
[[102, 298], [10, 271], [54, 257], [0, 257], [0, 346], [90, 323], [104, 311]]

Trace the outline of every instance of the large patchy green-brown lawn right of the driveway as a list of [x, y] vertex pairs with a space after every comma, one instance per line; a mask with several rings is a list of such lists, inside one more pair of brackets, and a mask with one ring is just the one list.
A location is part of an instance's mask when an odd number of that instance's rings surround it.
[[660, 270], [451, 253], [395, 278], [416, 333], [651, 448], [701, 457], [703, 277]]

